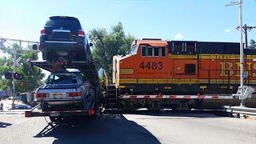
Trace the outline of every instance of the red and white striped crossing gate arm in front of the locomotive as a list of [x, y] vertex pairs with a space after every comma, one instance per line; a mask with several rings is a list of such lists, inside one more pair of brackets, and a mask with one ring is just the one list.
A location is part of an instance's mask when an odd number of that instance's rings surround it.
[[121, 95], [123, 99], [233, 99], [232, 95]]

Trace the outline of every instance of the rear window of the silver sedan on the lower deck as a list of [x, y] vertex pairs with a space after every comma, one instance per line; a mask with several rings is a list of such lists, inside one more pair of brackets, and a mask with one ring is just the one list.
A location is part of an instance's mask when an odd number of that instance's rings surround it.
[[75, 74], [50, 74], [46, 84], [75, 84], [78, 77]]

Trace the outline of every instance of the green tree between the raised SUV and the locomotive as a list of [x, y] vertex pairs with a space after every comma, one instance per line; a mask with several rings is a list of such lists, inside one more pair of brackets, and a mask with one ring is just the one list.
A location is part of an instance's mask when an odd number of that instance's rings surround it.
[[94, 44], [92, 54], [98, 70], [106, 70], [109, 82], [112, 82], [112, 58], [117, 54], [127, 54], [134, 37], [125, 34], [122, 23], [118, 22], [116, 26], [111, 27], [110, 32], [105, 28], [90, 30], [89, 38]]

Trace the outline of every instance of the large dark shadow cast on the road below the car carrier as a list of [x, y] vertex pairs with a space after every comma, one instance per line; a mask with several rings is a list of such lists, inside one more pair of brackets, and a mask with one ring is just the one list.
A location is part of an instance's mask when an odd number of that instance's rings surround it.
[[71, 125], [54, 126], [34, 138], [54, 137], [58, 143], [160, 143], [143, 126], [127, 120], [121, 114], [105, 114], [94, 119]]

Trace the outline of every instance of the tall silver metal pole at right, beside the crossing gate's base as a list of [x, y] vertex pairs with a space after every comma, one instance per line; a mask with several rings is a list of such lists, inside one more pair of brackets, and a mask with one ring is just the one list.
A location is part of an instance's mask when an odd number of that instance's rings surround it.
[[[238, 2], [230, 2], [229, 5], [226, 6], [239, 6], [239, 26], [242, 27], [242, 0], [239, 0]], [[239, 99], [241, 99], [240, 106], [245, 106], [245, 100], [242, 99], [243, 91], [243, 40], [242, 40], [242, 29], [239, 29], [240, 31], [240, 96]]]

